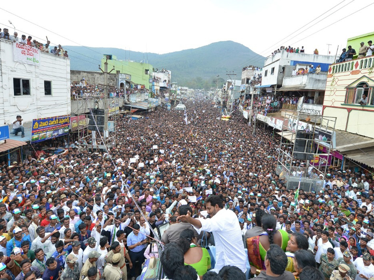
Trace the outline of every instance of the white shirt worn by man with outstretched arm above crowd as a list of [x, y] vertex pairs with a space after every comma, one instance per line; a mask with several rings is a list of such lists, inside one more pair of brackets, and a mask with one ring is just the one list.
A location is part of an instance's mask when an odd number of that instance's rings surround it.
[[210, 219], [199, 218], [201, 231], [213, 232], [216, 247], [215, 267], [213, 271], [220, 271], [225, 265], [234, 265], [246, 272], [247, 256], [245, 253], [242, 232], [235, 213], [231, 210], [221, 209]]

